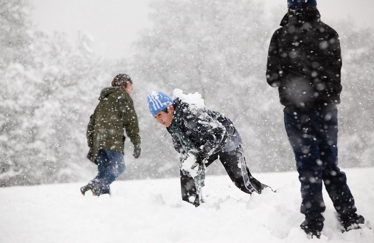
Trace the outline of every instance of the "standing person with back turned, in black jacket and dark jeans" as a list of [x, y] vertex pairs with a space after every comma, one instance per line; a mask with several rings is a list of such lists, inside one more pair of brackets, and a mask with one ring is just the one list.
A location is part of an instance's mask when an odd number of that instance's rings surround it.
[[270, 41], [266, 78], [278, 87], [284, 122], [301, 182], [300, 227], [321, 235], [322, 181], [343, 230], [359, 228], [346, 174], [338, 168], [338, 116], [342, 65], [337, 32], [321, 21], [316, 0], [288, 0], [288, 13]]

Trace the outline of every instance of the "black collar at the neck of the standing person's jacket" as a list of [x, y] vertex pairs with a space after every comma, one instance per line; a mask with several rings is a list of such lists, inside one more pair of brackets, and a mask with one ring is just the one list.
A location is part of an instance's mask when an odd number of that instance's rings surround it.
[[[319, 14], [318, 9], [314, 8], [300, 8], [292, 10], [283, 17], [281, 21], [281, 26], [285, 26], [286, 24], [295, 25], [299, 23], [299, 21], [321, 21], [321, 15]], [[300, 22], [300, 24], [303, 24]]]

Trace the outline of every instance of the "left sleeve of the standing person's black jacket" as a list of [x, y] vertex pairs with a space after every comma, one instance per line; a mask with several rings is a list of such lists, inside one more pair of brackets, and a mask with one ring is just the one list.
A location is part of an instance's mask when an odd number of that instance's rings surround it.
[[269, 53], [267, 56], [266, 80], [272, 87], [279, 86], [279, 77], [282, 76], [277, 35], [278, 31], [274, 32], [270, 41]]

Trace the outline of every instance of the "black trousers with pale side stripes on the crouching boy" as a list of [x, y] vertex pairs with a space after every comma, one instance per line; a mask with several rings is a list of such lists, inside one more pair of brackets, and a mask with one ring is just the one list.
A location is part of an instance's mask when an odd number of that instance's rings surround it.
[[[253, 191], [261, 193], [261, 183], [252, 177], [251, 172], [249, 172], [248, 166], [245, 163], [244, 153], [242, 146], [239, 145], [236, 149], [230, 152], [218, 152], [211, 155], [208, 158], [208, 162], [205, 165], [208, 167], [216, 159], [220, 158], [220, 161], [230, 179], [233, 181], [235, 186], [245, 193], [251, 194]], [[239, 166], [240, 165], [240, 166]], [[182, 199], [184, 201], [190, 202], [189, 198], [194, 197], [195, 206], [198, 206], [199, 200], [196, 194], [196, 186], [194, 178], [184, 175], [181, 171], [181, 193]]]

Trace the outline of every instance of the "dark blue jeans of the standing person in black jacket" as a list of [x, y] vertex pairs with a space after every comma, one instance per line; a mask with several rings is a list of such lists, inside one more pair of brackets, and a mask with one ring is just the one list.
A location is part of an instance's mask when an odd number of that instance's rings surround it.
[[301, 182], [301, 213], [310, 221], [324, 220], [323, 181], [338, 216], [354, 215], [355, 201], [346, 174], [338, 168], [337, 109], [285, 110], [284, 121]]

